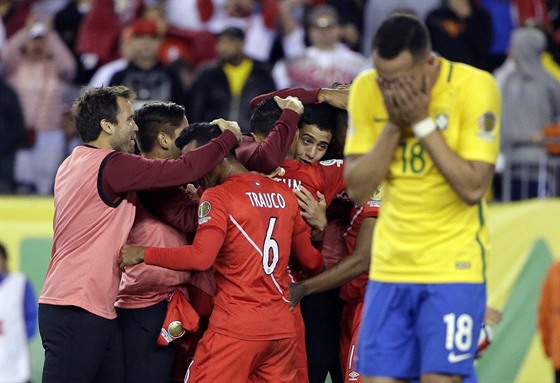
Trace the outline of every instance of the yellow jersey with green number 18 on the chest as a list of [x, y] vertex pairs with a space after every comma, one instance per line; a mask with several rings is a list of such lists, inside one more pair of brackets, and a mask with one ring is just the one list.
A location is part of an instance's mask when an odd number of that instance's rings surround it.
[[[490, 73], [438, 59], [429, 114], [449, 147], [466, 160], [494, 164], [501, 99]], [[345, 155], [368, 152], [388, 115], [375, 70], [352, 84]], [[372, 164], [373, 166], [373, 164]], [[412, 131], [403, 131], [382, 182], [370, 279], [404, 283], [480, 283], [488, 251], [486, 202], [467, 205]]]

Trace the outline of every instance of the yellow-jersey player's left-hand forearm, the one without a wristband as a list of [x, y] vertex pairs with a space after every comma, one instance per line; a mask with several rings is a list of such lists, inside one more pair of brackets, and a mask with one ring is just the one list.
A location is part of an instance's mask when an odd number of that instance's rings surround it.
[[388, 123], [366, 154], [345, 157], [346, 190], [354, 202], [363, 204], [385, 178], [399, 138], [400, 129]]

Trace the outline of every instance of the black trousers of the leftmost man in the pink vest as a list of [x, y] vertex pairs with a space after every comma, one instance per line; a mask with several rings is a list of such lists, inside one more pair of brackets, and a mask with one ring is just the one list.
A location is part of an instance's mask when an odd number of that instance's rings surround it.
[[124, 382], [117, 320], [75, 306], [39, 304], [43, 383]]

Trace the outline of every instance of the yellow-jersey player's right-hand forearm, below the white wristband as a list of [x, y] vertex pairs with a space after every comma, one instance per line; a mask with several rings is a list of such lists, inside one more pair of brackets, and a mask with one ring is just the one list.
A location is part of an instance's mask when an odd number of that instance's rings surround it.
[[465, 160], [451, 150], [437, 131], [422, 138], [421, 142], [455, 193], [469, 205], [478, 203], [492, 181], [494, 165]]

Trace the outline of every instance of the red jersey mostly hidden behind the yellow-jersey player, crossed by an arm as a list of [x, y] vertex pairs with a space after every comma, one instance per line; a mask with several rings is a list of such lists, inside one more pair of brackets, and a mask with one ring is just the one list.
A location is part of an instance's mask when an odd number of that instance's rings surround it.
[[[379, 189], [378, 189], [379, 190]], [[379, 206], [381, 205], [381, 193], [377, 191], [369, 200], [363, 205], [355, 205], [350, 213], [350, 226], [344, 233], [347, 254], [352, 254], [354, 245], [356, 244], [356, 237], [362, 226], [364, 218], [374, 217], [377, 218], [379, 213]], [[372, 233], [373, 235], [373, 233]], [[365, 272], [351, 281], [345, 283], [340, 287], [340, 298], [346, 302], [355, 303], [364, 299], [366, 292], [366, 285], [368, 281], [368, 273]]]

